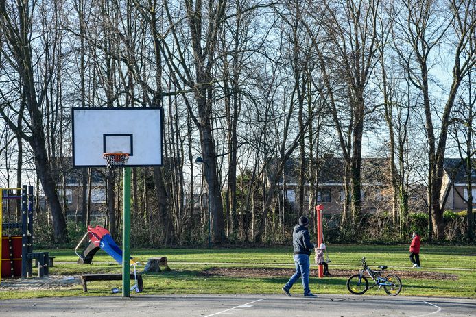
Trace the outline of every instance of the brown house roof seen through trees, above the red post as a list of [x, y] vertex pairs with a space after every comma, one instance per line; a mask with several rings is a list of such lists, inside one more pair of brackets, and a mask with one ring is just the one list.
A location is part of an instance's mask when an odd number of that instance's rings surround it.
[[[344, 159], [342, 157], [323, 157], [316, 164], [319, 170], [318, 183], [344, 182]], [[368, 184], [388, 183], [390, 160], [383, 157], [362, 158], [361, 162], [361, 182]], [[283, 173], [279, 183], [298, 183], [300, 164], [297, 158], [287, 160], [283, 168]], [[309, 177], [309, 160], [305, 160], [305, 174]]]

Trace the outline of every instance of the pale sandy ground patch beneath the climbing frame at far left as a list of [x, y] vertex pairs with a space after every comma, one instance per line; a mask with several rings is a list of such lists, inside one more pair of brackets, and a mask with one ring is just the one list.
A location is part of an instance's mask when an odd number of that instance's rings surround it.
[[43, 279], [32, 277], [31, 279], [1, 279], [1, 290], [53, 290], [67, 288], [81, 283], [81, 279], [64, 277], [61, 275], [49, 275]]

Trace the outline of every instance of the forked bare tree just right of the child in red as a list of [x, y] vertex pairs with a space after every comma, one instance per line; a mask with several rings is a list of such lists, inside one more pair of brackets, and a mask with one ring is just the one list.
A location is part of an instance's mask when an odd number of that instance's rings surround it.
[[[444, 154], [447, 147], [449, 118], [455, 97], [462, 79], [468, 75], [476, 62], [476, 47], [471, 45], [470, 38], [475, 34], [474, 1], [405, 1], [406, 14], [399, 21], [403, 40], [411, 45], [412, 60], [418, 66], [418, 73], [412, 71], [412, 84], [423, 95], [423, 111], [425, 112], [425, 133], [429, 143], [429, 200], [433, 233], [441, 239], [444, 236], [444, 204], [441, 188]], [[447, 14], [444, 14], [447, 12]], [[449, 34], [453, 26], [454, 31]], [[447, 92], [447, 101], [442, 107], [439, 134], [433, 121], [434, 111], [431, 101], [431, 58], [434, 50], [448, 35], [453, 52], [452, 82]], [[429, 232], [431, 239], [431, 232]]]

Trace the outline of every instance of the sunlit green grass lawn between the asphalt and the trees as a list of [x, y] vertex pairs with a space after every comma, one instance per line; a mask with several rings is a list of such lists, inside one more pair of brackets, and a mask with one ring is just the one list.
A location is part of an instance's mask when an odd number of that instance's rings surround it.
[[[79, 277], [84, 273], [121, 272], [121, 266], [99, 251], [93, 264], [78, 265], [72, 250], [43, 250], [55, 256], [51, 277]], [[476, 299], [476, 246], [428, 246], [420, 254], [423, 268], [411, 268], [408, 246], [329, 245], [329, 268], [335, 276], [318, 279], [317, 266], [311, 264], [311, 291], [317, 294], [350, 294], [347, 278], [359, 270], [361, 257], [371, 268], [388, 266], [388, 272], [401, 275], [401, 295], [454, 296]], [[253, 249], [133, 249], [132, 255], [143, 259], [167, 256], [170, 272], [145, 273], [141, 294], [275, 294], [293, 273], [291, 248]], [[313, 254], [311, 255], [313, 263]], [[143, 270], [140, 267], [139, 270]], [[109, 295], [121, 281], [88, 282], [88, 292], [78, 283], [40, 288], [8, 287], [9, 279], [0, 285], [0, 299], [43, 296]], [[33, 283], [33, 282], [32, 282]], [[40, 283], [40, 280], [34, 281]], [[131, 281], [133, 284], [134, 281]], [[2, 290], [3, 288], [3, 290]], [[302, 294], [298, 281], [291, 289]], [[370, 289], [366, 294], [385, 294]], [[120, 296], [117, 294], [116, 296]], [[134, 295], [136, 296], [136, 295]], [[140, 294], [138, 295], [140, 296]]]

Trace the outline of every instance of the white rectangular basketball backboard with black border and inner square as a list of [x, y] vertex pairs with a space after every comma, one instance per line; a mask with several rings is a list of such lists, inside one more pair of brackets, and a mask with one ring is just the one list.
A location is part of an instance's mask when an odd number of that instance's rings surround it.
[[126, 166], [161, 166], [162, 109], [73, 108], [73, 166], [106, 166], [110, 152], [129, 153]]

